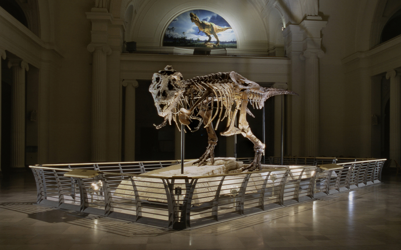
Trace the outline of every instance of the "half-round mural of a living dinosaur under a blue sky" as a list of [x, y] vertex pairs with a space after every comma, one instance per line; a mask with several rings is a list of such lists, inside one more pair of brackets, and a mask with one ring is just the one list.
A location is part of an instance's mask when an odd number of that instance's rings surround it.
[[190, 10], [174, 18], [164, 33], [163, 46], [237, 48], [230, 24], [208, 10]]

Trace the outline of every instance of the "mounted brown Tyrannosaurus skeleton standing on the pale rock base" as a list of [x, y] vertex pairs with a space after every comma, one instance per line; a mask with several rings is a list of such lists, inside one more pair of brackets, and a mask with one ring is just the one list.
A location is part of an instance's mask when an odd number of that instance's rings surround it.
[[[264, 154], [265, 144], [256, 138], [249, 128], [246, 114], [251, 116], [253, 114], [247, 108], [247, 104], [261, 109], [265, 100], [271, 96], [296, 94], [289, 90], [261, 87], [234, 71], [184, 80], [182, 74], [169, 65], [153, 74], [149, 91], [152, 93], [159, 116], [164, 117], [162, 124], [155, 125], [157, 129], [165, 126], [167, 122], [171, 124], [171, 120], [176, 123], [178, 129], [180, 129], [179, 121], [192, 132], [198, 130], [202, 124], [205, 126], [209, 146], [194, 164], [201, 166], [209, 158], [212, 164], [214, 163], [217, 135], [212, 122], [216, 122], [217, 128], [219, 122], [227, 118], [227, 129], [221, 132], [221, 135], [242, 134], [254, 144], [255, 158], [247, 168], [248, 171], [256, 168], [261, 170], [261, 156]], [[234, 122], [238, 112], [239, 124], [236, 128]], [[189, 126], [192, 120], [199, 122], [194, 129]]]

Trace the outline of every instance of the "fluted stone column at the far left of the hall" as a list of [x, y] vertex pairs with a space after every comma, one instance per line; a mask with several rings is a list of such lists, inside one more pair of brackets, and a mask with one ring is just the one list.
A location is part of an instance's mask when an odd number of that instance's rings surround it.
[[12, 68], [12, 104], [11, 104], [11, 167], [25, 168], [25, 70], [29, 67], [25, 61], [8, 61]]

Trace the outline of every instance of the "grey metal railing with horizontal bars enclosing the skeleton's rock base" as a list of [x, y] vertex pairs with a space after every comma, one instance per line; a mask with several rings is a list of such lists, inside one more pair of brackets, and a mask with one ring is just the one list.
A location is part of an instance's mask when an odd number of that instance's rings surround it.
[[[138, 175], [177, 163], [171, 161], [30, 168], [36, 180], [38, 204], [184, 229], [379, 183], [384, 162], [343, 162], [337, 163], [343, 168], [335, 170], [290, 166], [196, 177]], [[64, 176], [73, 169], [97, 170], [98, 175]]]

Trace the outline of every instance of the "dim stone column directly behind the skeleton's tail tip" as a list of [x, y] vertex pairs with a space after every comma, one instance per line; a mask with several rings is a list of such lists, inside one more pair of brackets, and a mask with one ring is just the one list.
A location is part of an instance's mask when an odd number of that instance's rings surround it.
[[[276, 82], [273, 84], [273, 88], [281, 88], [286, 90], [288, 89], [288, 85], [285, 82]], [[284, 95], [274, 96], [274, 156], [281, 156], [281, 108], [283, 98]]]

